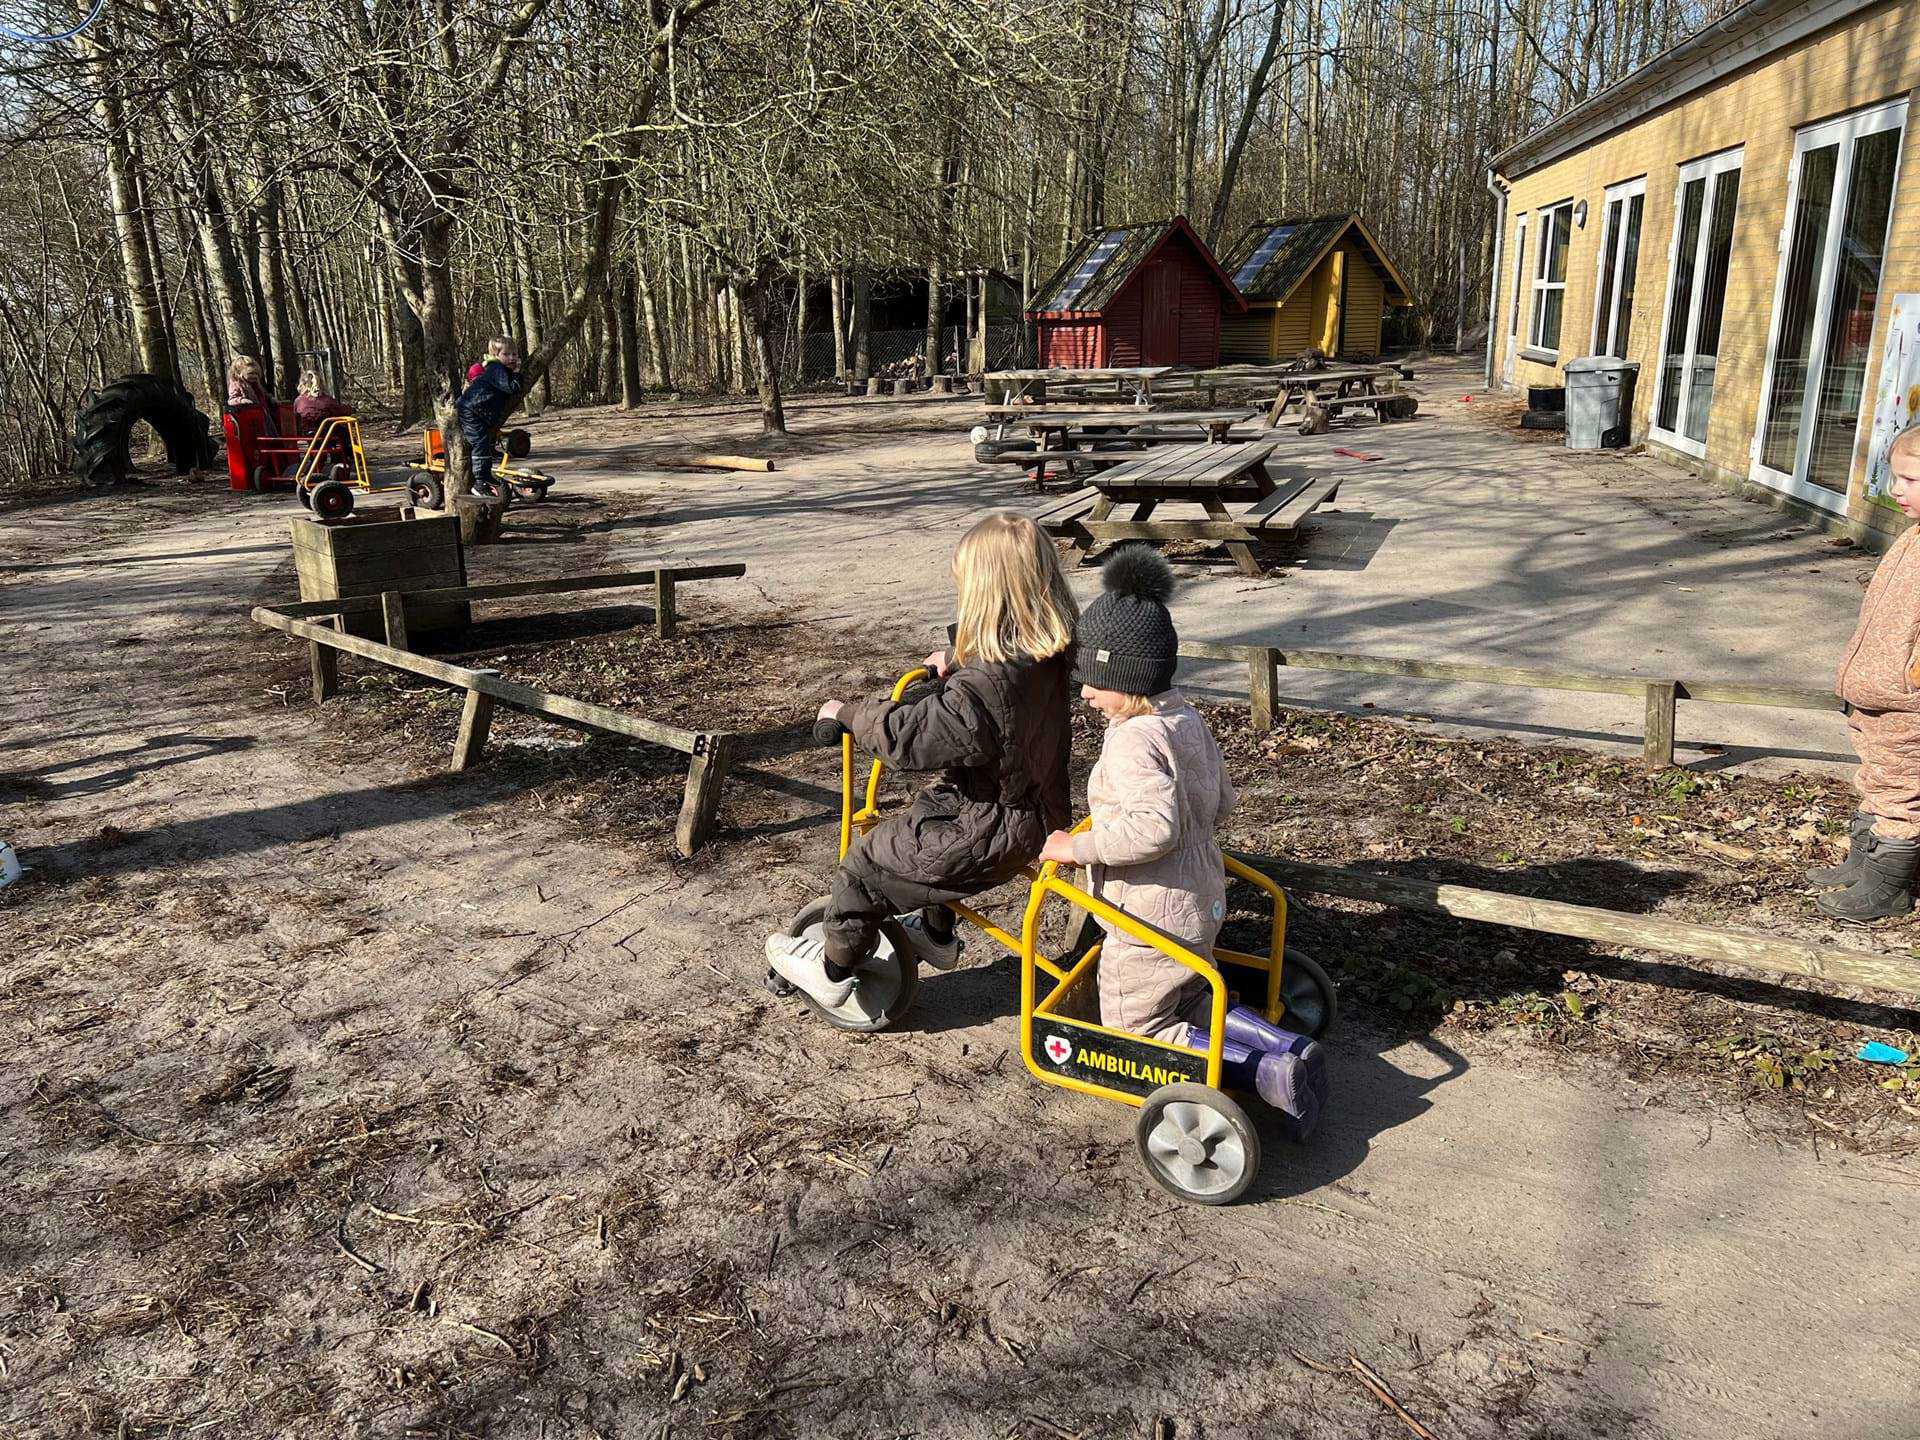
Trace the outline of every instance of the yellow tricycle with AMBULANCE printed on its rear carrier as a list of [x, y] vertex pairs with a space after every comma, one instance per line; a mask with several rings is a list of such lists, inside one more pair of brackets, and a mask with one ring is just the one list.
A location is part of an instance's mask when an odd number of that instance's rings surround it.
[[[893, 699], [904, 699], [927, 674], [910, 670], [900, 676]], [[841, 741], [839, 854], [845, 858], [854, 833], [864, 835], [883, 818], [879, 783], [885, 766], [877, 758], [872, 762], [864, 803], [856, 810], [852, 735], [831, 720], [816, 726], [816, 735], [824, 743], [829, 743], [835, 732]], [[1083, 820], [1079, 828], [1091, 822]], [[1169, 1194], [1202, 1206], [1236, 1200], [1260, 1171], [1260, 1131], [1254, 1129], [1240, 1100], [1221, 1087], [1225, 1018], [1231, 1004], [1227, 972], [1240, 983], [1242, 1002], [1258, 1006], [1273, 1023], [1319, 1039], [1338, 1018], [1338, 1000], [1327, 972], [1308, 954], [1286, 948], [1286, 893], [1267, 876], [1231, 856], [1227, 874], [1229, 879], [1242, 879], [1269, 899], [1271, 925], [1267, 954], [1215, 947], [1213, 958], [1219, 968], [1062, 879], [1052, 862], [1027, 866], [1031, 885], [1018, 935], [968, 904], [952, 906], [960, 920], [1020, 960], [1020, 1052], [1027, 1069], [1046, 1085], [1137, 1106], [1140, 1114], [1133, 1135], [1148, 1175]], [[1094, 970], [1100, 960], [1100, 941], [1094, 939], [1077, 958], [1068, 954], [1056, 960], [1041, 954], [1041, 918], [1050, 900], [1064, 900], [1202, 975], [1212, 991], [1208, 1046], [1194, 1050], [1102, 1025]], [[804, 935], [822, 922], [826, 908], [826, 897], [812, 900], [793, 916], [787, 933]], [[1087, 939], [1089, 929], [1081, 929], [1081, 939]], [[793, 989], [772, 972], [766, 975], [766, 985], [776, 995], [799, 995], [841, 1029], [881, 1031], [897, 1025], [914, 1004], [920, 964], [899, 922], [885, 922], [881, 935], [879, 952], [860, 970], [858, 985], [845, 1006], [822, 1008], [804, 991]]]

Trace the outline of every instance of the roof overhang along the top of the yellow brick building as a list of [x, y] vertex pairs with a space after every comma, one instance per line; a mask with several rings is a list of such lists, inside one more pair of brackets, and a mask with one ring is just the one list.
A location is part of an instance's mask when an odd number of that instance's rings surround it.
[[1524, 140], [1507, 146], [1494, 156], [1492, 167], [1515, 179], [1551, 165], [1561, 156], [1718, 84], [1728, 75], [1830, 25], [1887, 4], [1893, 0], [1747, 0], [1620, 77], [1592, 100], [1582, 100]]

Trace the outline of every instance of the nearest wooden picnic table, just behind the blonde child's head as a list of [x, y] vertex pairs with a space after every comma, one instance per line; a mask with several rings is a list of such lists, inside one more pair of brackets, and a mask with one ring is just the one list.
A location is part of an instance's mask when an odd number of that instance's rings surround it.
[[[1273, 440], [1165, 445], [1092, 476], [1089, 492], [1075, 497], [1085, 507], [1071, 509], [1069, 503], [1060, 515], [1043, 516], [1043, 528], [1073, 541], [1073, 564], [1085, 561], [1094, 545], [1121, 540], [1217, 540], [1242, 574], [1265, 574], [1254, 559], [1254, 541], [1296, 530], [1340, 493], [1338, 476], [1279, 467], [1277, 478], [1267, 467], [1275, 447]], [[1248, 501], [1248, 509], [1235, 516], [1227, 501]], [[1156, 509], [1171, 503], [1198, 505], [1208, 518], [1152, 518]], [[1112, 518], [1117, 505], [1133, 505], [1133, 518]]]

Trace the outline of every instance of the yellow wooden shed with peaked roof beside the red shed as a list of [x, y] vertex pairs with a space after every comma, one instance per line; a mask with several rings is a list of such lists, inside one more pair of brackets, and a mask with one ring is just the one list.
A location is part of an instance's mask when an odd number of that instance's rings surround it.
[[1352, 211], [1256, 221], [1227, 250], [1227, 275], [1246, 315], [1223, 315], [1223, 365], [1290, 361], [1306, 349], [1375, 357], [1386, 311], [1413, 294]]

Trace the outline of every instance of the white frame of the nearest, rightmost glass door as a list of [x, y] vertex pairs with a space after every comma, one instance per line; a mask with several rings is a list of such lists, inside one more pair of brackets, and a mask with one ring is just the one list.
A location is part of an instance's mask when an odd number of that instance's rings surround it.
[[[1841, 115], [1837, 119], [1822, 121], [1820, 125], [1807, 125], [1793, 134], [1793, 171], [1791, 182], [1788, 184], [1788, 207], [1780, 221], [1780, 267], [1774, 276], [1774, 309], [1772, 319], [1766, 324], [1766, 369], [1761, 371], [1761, 399], [1755, 405], [1753, 415], [1753, 445], [1747, 459], [1747, 478], [1766, 486], [1768, 490], [1778, 490], [1784, 495], [1805, 501], [1816, 509], [1828, 511], [1832, 515], [1847, 513], [1847, 497], [1853, 493], [1853, 467], [1847, 470], [1847, 488], [1843, 492], [1832, 492], [1826, 486], [1816, 486], [1807, 480], [1807, 461], [1812, 447], [1812, 417], [1807, 413], [1812, 397], [1818, 396], [1820, 380], [1826, 378], [1826, 332], [1832, 323], [1834, 305], [1834, 261], [1839, 255], [1839, 236], [1847, 225], [1847, 204], [1853, 200], [1853, 148], [1855, 142], [1868, 134], [1878, 134], [1882, 131], [1891, 131], [1899, 127], [1901, 142], [1893, 152], [1893, 200], [1887, 205], [1887, 234], [1893, 232], [1893, 217], [1899, 215], [1901, 205], [1901, 165], [1907, 161], [1907, 100], [1889, 100], [1884, 106], [1874, 106], [1872, 109], [1859, 109], [1851, 115]], [[1816, 280], [1816, 307], [1812, 315], [1812, 346], [1807, 351], [1807, 386], [1801, 394], [1801, 428], [1799, 444], [1793, 451], [1793, 474], [1784, 474], [1768, 465], [1761, 463], [1761, 453], [1764, 449], [1766, 436], [1766, 401], [1774, 394], [1774, 357], [1780, 348], [1780, 303], [1786, 300], [1788, 290], [1788, 261], [1791, 259], [1791, 238], [1793, 238], [1793, 215], [1799, 211], [1799, 186], [1801, 186], [1801, 159], [1809, 150], [1818, 150], [1834, 142], [1841, 144], [1839, 163], [1834, 173], [1834, 204], [1826, 217], [1826, 240], [1820, 246], [1820, 278]], [[1885, 294], [1885, 267], [1891, 257], [1887, 255], [1885, 236], [1880, 242], [1880, 265], [1882, 265], [1882, 284], [1880, 290]], [[1878, 301], [1876, 301], [1878, 311]], [[1880, 336], [1880, 317], [1874, 315], [1874, 334]], [[1885, 342], [1882, 340], [1882, 346]], [[1874, 367], [1874, 357], [1878, 349], [1868, 346], [1868, 367]], [[1874, 392], [1860, 392], [1860, 415], [1853, 422], [1853, 455], [1860, 455], [1860, 430], [1872, 422]]]

